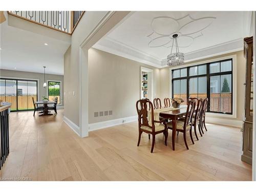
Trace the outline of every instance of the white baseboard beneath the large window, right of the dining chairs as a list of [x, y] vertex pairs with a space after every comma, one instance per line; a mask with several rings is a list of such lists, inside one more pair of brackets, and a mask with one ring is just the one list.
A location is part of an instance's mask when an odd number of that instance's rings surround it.
[[220, 125], [226, 125], [226, 126], [233, 126], [233, 127], [243, 127], [243, 121], [242, 120], [235, 120], [235, 119], [221, 119], [216, 117], [206, 117], [205, 122], [212, 123], [212, 124], [220, 124]]

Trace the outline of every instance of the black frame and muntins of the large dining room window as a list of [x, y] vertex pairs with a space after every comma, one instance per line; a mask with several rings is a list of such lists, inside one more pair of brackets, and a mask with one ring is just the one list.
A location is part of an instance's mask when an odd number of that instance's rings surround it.
[[[221, 72], [221, 62], [225, 62], [225, 61], [231, 61], [231, 71]], [[219, 65], [220, 66], [220, 72], [210, 73], [210, 64], [211, 63], [216, 63], [216, 62], [220, 63], [220, 65]], [[203, 65], [206, 65], [206, 74], [189, 76], [189, 68], [196, 67], [196, 66], [203, 66]], [[185, 68], [187, 69], [187, 76], [173, 78], [173, 73], [174, 73], [175, 70], [181, 70], [181, 69], [185, 69]], [[219, 76], [221, 76], [221, 75], [230, 75], [230, 74], [231, 74], [231, 113], [210, 111], [210, 77], [211, 76], [218, 76], [218, 75]], [[187, 85], [186, 95], [187, 95], [187, 99], [188, 99], [189, 98], [189, 79], [190, 78], [197, 78], [197, 77], [206, 77], [206, 80], [207, 80], [207, 98], [209, 99], [209, 102], [208, 102], [206, 112], [233, 115], [233, 59], [228, 58], [228, 59], [223, 59], [223, 60], [218, 60], [218, 61], [206, 62], [206, 63], [203, 63], [203, 64], [194, 65], [194, 66], [187, 66], [187, 67], [183, 67], [183, 68], [172, 69], [172, 97], [174, 97], [174, 83], [173, 83], [174, 80], [186, 79], [186, 85]], [[220, 79], [220, 81], [221, 81], [221, 79]], [[221, 90], [220, 90], [220, 94], [221, 94]]]

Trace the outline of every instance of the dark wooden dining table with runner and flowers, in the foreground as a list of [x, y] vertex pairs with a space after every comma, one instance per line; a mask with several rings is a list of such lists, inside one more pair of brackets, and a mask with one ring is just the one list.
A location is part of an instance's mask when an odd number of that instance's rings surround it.
[[[155, 108], [156, 109], [164, 109], [166, 107]], [[187, 112], [187, 105], [181, 105], [180, 108], [172, 108], [168, 109], [168, 111], [161, 111], [159, 116], [165, 119], [172, 120], [173, 124], [173, 133], [172, 133], [172, 144], [173, 144], [173, 151], [175, 151], [175, 140], [176, 140], [176, 129], [177, 129], [177, 120], [178, 118], [183, 117], [186, 115]]]

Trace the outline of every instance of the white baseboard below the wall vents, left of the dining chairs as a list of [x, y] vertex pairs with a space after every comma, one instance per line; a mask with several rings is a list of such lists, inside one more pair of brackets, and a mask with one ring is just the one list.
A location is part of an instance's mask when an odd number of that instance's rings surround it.
[[136, 121], [137, 119], [138, 119], [138, 116], [136, 115], [136, 116], [124, 117], [124, 118], [120, 118], [120, 119], [113, 119], [113, 120], [101, 121], [101, 122], [97, 122], [97, 123], [90, 123], [89, 124], [89, 132], [104, 129], [106, 127], [115, 126], [115, 125], [119, 125], [119, 124], [130, 123], [130, 122]]

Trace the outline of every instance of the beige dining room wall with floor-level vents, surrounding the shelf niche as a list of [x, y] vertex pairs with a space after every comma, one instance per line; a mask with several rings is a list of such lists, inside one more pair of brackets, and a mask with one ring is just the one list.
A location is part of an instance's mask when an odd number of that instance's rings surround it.
[[[93, 48], [88, 56], [89, 123], [135, 116], [135, 103], [140, 99], [140, 67], [146, 65]], [[159, 71], [151, 66], [147, 68], [154, 74]], [[159, 82], [159, 75], [153, 75], [153, 82]], [[159, 89], [153, 91], [158, 97]], [[113, 111], [113, 115], [94, 117], [94, 112], [100, 111]]]

